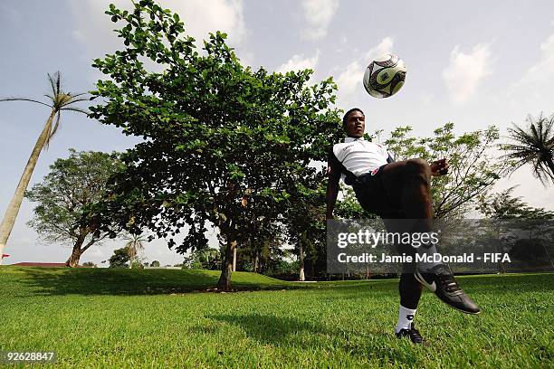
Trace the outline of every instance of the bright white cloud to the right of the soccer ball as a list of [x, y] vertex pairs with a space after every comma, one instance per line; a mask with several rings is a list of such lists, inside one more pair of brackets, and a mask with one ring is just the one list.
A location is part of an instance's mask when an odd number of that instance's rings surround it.
[[458, 46], [450, 53], [450, 63], [443, 71], [443, 79], [456, 103], [463, 103], [476, 92], [481, 80], [492, 74], [489, 44], [473, 46], [471, 53], [463, 53]]

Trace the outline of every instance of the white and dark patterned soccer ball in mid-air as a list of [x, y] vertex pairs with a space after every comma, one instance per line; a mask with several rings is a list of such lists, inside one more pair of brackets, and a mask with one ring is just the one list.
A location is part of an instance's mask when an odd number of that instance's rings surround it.
[[395, 54], [386, 53], [368, 65], [364, 73], [364, 87], [374, 98], [393, 96], [404, 85], [406, 64]]

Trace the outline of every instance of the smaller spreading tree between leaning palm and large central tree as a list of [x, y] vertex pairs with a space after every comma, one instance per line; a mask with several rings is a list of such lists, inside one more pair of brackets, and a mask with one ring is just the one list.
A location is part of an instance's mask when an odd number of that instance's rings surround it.
[[57, 159], [43, 181], [25, 194], [30, 201], [38, 203], [28, 224], [39, 236], [49, 243], [72, 244], [67, 266], [78, 265], [84, 251], [109, 235], [93, 222], [77, 222], [84, 207], [106, 196], [110, 175], [121, 168], [118, 153], [77, 152], [70, 148], [70, 156]]

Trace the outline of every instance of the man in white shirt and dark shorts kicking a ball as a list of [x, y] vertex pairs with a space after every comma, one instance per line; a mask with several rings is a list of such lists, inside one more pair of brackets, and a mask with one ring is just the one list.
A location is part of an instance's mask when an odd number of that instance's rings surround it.
[[[433, 217], [430, 182], [432, 175], [446, 175], [446, 159], [436, 160], [430, 165], [423, 159], [409, 159], [395, 162], [383, 145], [363, 139], [366, 119], [362, 110], [350, 109], [342, 119], [347, 132], [344, 143], [332, 147], [329, 155], [329, 183], [327, 186], [327, 219], [333, 219], [333, 208], [339, 193], [339, 179], [351, 185], [358, 202], [369, 213], [375, 213], [384, 220], [421, 220], [418, 232], [430, 232]], [[387, 222], [386, 222], [387, 224]], [[391, 230], [387, 231], [391, 232]], [[415, 229], [412, 229], [412, 232]], [[435, 246], [426, 246], [410, 253], [436, 251]], [[396, 336], [409, 337], [416, 344], [425, 343], [414, 326], [416, 308], [425, 286], [435, 295], [458, 310], [478, 314], [479, 307], [456, 283], [452, 271], [442, 263], [404, 264], [398, 289], [400, 309]]]

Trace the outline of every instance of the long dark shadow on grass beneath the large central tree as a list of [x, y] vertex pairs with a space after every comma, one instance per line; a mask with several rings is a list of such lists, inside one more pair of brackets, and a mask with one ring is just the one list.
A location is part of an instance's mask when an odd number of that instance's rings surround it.
[[[11, 296], [57, 295], [158, 295], [205, 292], [215, 289], [218, 270], [129, 270], [69, 268], [6, 268], [0, 284]], [[277, 279], [236, 272], [233, 288], [237, 291], [262, 289], [301, 289]]]

